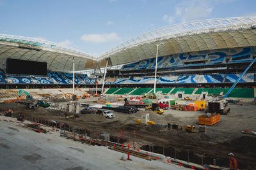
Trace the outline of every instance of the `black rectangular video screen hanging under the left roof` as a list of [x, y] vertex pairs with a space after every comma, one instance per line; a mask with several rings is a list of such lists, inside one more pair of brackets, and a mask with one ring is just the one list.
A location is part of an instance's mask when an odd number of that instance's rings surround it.
[[47, 62], [6, 59], [7, 74], [47, 75]]

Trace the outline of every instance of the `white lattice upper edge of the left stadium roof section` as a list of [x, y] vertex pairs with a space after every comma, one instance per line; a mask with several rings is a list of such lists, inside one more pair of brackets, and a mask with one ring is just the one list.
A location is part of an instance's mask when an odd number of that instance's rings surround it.
[[97, 58], [89, 53], [82, 52], [76, 48], [70, 46], [61, 45], [60, 43], [54, 43], [37, 38], [28, 38], [24, 36], [13, 36], [7, 34], [0, 34], [0, 43], [6, 45], [18, 46], [22, 44], [28, 47], [35, 47], [35, 49], [47, 50], [50, 52], [64, 53], [75, 57], [82, 57], [91, 60], [97, 60]]

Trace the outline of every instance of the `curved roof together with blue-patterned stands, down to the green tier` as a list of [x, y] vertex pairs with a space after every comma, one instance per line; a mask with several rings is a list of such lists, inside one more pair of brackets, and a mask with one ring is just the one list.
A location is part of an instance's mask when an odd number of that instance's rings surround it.
[[[256, 57], [256, 17], [219, 18], [171, 25], [125, 41], [100, 57], [34, 38], [0, 34], [2, 88], [71, 87], [76, 71], [124, 64], [109, 69], [106, 87], [152, 87], [157, 60], [157, 87], [230, 87]], [[47, 62], [47, 75], [6, 74], [6, 59]], [[238, 87], [255, 87], [255, 66]], [[102, 77], [76, 74], [75, 83], [92, 87]]]

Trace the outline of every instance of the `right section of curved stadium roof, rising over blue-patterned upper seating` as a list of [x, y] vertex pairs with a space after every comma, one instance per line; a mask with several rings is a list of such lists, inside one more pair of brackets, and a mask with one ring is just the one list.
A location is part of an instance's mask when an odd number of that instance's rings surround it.
[[199, 20], [162, 27], [125, 41], [100, 56], [111, 65], [175, 53], [256, 45], [256, 17]]

